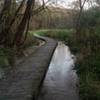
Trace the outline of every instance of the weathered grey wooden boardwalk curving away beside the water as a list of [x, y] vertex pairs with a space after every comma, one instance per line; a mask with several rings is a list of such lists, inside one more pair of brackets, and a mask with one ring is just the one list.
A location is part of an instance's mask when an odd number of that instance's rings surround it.
[[46, 41], [36, 53], [17, 64], [5, 79], [0, 80], [0, 100], [35, 100], [47, 72], [57, 41]]

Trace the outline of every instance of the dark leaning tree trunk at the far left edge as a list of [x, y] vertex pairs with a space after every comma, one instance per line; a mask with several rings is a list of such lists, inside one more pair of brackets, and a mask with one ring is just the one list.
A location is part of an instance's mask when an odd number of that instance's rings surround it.
[[11, 4], [12, 0], [5, 0], [0, 14], [0, 43], [3, 43], [7, 37], [6, 29], [10, 24]]

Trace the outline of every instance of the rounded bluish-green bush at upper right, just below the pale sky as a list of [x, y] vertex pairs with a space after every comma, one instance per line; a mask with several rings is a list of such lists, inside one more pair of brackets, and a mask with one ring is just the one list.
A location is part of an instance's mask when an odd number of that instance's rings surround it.
[[100, 23], [100, 9], [90, 8], [82, 13], [80, 24], [84, 28], [97, 27]]

